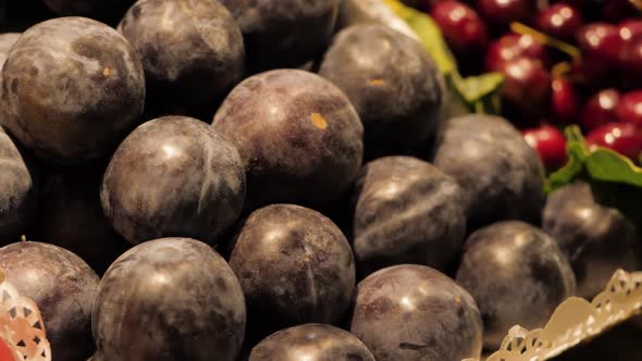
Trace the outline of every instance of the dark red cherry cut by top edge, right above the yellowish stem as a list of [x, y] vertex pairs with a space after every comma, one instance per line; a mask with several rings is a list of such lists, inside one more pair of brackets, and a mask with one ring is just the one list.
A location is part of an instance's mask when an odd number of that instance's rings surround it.
[[496, 27], [506, 27], [510, 22], [521, 22], [532, 15], [532, 0], [477, 0], [481, 15]]

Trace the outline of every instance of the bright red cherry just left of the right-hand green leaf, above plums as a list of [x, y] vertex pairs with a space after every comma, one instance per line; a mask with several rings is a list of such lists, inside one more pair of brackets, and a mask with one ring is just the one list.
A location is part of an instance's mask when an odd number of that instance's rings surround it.
[[566, 162], [566, 138], [558, 128], [544, 124], [539, 128], [524, 129], [523, 138], [533, 147], [544, 165], [555, 169]]

